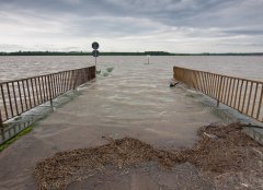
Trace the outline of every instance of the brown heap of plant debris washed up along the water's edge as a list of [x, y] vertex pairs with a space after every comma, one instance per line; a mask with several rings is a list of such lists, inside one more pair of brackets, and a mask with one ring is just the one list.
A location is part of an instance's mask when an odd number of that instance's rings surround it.
[[[238, 123], [201, 128], [199, 141], [191, 150], [163, 151], [132, 138], [108, 139], [110, 143], [93, 149], [60, 152], [35, 167], [38, 189], [65, 189], [72, 181], [87, 179], [111, 165], [118, 169], [155, 162], [167, 169], [188, 162], [210, 179], [224, 183], [222, 174], [250, 171], [262, 175], [258, 167], [263, 147], [241, 132]], [[260, 176], [263, 177], [263, 176]], [[222, 186], [220, 186], [222, 187]]]

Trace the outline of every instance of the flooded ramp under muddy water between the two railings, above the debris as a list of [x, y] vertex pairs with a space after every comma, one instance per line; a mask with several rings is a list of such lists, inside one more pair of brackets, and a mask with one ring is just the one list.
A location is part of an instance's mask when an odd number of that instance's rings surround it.
[[169, 87], [172, 68], [115, 66], [108, 76], [103, 72], [79, 97], [0, 154], [0, 189], [35, 189], [36, 162], [56, 152], [107, 143], [102, 136], [182, 149], [196, 142], [199, 127], [220, 120], [183, 87]]

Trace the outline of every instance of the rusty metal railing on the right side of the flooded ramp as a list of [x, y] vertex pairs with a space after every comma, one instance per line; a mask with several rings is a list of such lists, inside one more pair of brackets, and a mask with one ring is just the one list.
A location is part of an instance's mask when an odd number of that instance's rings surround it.
[[263, 122], [263, 82], [173, 68], [173, 78], [239, 112]]

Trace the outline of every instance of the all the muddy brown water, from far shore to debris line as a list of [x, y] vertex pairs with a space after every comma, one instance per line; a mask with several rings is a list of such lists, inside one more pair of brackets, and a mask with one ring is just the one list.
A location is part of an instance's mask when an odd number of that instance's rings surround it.
[[[92, 61], [90, 57], [1, 57], [0, 80], [87, 67]], [[104, 144], [102, 136], [132, 136], [161, 149], [192, 146], [201, 126], [220, 119], [188, 96], [192, 92], [169, 87], [173, 66], [256, 80], [262, 80], [263, 70], [263, 57], [151, 57], [150, 64], [146, 62], [145, 57], [100, 57], [102, 74], [82, 87], [82, 95], [0, 153], [0, 189], [35, 189], [36, 162], [56, 152]], [[108, 67], [114, 70], [103, 76]]]

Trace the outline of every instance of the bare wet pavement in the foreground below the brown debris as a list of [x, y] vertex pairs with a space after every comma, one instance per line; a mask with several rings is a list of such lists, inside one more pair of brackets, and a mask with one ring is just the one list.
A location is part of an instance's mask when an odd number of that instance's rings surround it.
[[88, 179], [71, 182], [68, 190], [210, 190], [214, 185], [199, 175], [190, 163], [181, 164], [172, 169], [161, 169], [156, 164], [139, 167], [114, 169], [106, 168]]

